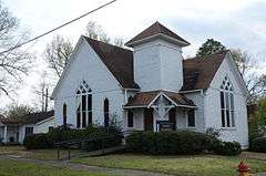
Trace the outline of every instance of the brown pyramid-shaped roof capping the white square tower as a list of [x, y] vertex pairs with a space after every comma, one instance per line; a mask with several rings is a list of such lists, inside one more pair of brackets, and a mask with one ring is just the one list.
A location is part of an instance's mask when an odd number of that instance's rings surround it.
[[164, 34], [166, 37], [170, 37], [183, 42], [184, 45], [190, 45], [190, 43], [186, 40], [182, 39], [180, 35], [177, 35], [176, 33], [174, 33], [173, 31], [171, 31], [170, 29], [167, 29], [166, 27], [164, 27], [157, 21], [153, 23], [151, 27], [149, 27], [147, 29], [145, 29], [143, 32], [139, 33], [136, 37], [131, 39], [129, 42], [126, 42], [125, 45], [131, 46], [132, 43], [135, 43], [137, 41], [144, 40], [157, 34]]

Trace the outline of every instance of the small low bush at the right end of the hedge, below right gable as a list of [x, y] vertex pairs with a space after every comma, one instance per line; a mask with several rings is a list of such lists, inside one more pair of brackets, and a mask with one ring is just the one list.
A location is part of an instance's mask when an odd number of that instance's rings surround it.
[[239, 155], [242, 147], [237, 142], [217, 141], [213, 144], [213, 152], [218, 155]]

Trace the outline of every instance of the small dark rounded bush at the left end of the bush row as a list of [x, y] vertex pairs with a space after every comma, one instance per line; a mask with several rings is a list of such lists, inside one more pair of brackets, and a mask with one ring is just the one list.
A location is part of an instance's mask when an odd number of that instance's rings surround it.
[[24, 138], [23, 145], [27, 149], [41, 149], [51, 148], [53, 142], [47, 134], [31, 134]]

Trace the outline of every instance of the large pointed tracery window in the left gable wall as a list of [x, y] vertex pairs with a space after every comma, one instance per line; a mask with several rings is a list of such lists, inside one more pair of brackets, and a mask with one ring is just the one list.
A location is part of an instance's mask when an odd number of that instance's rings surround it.
[[76, 90], [76, 127], [92, 124], [92, 91], [85, 81]]

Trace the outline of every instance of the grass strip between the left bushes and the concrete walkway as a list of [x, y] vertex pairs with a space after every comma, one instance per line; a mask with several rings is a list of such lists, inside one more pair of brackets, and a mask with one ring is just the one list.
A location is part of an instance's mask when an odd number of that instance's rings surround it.
[[[76, 156], [82, 154], [81, 151], [72, 149], [71, 156]], [[57, 149], [30, 149], [27, 151], [23, 146], [0, 146], [0, 155], [17, 155], [20, 157], [42, 159], [42, 161], [55, 161], [58, 159]], [[68, 156], [68, 151], [60, 151], [60, 157], [65, 158]]]

